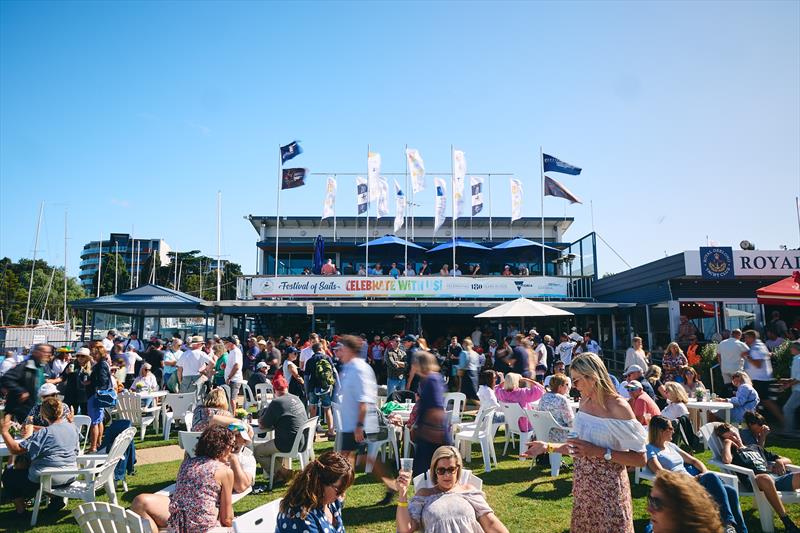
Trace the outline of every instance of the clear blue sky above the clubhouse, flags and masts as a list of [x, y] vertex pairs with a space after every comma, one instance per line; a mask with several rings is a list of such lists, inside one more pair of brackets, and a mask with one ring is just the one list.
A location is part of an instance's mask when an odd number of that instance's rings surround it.
[[[85, 242], [132, 226], [213, 254], [219, 189], [223, 255], [253, 272], [242, 217], [275, 214], [295, 138], [312, 171], [365, 171], [368, 143], [386, 171], [406, 143], [444, 171], [455, 144], [468, 170], [523, 180], [524, 216], [544, 145], [584, 168], [559, 176], [585, 200], [567, 237], [592, 200], [633, 265], [706, 236], [797, 247], [800, 2], [0, 3], [0, 256], [30, 256], [41, 200], [40, 255], [63, 263], [68, 209], [74, 275]], [[282, 214], [319, 215], [323, 183]], [[493, 182], [495, 215], [508, 191]]]

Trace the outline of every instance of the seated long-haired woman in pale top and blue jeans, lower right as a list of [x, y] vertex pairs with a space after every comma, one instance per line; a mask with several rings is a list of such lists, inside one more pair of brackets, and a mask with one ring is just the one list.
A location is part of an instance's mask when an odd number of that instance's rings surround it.
[[733, 487], [723, 485], [720, 478], [709, 472], [706, 465], [672, 443], [672, 422], [663, 416], [654, 416], [648, 427], [647, 467], [655, 474], [677, 472], [694, 477], [719, 507], [722, 523], [739, 533], [747, 533], [739, 504], [739, 494]]

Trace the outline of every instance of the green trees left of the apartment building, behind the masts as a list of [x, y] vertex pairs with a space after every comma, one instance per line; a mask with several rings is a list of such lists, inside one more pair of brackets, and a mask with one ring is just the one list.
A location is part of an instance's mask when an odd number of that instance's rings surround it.
[[[28, 301], [31, 260], [0, 259], [0, 311], [3, 325], [22, 325]], [[67, 301], [85, 297], [77, 278], [67, 278]], [[69, 312], [69, 311], [68, 311]], [[33, 272], [30, 317], [64, 320], [64, 268], [37, 260]], [[30, 319], [29, 319], [30, 320]]]

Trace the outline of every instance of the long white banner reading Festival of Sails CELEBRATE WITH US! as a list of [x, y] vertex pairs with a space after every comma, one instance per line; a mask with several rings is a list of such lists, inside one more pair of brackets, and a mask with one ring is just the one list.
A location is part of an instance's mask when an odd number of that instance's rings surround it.
[[555, 277], [283, 276], [252, 278], [259, 298], [566, 298], [567, 279]]

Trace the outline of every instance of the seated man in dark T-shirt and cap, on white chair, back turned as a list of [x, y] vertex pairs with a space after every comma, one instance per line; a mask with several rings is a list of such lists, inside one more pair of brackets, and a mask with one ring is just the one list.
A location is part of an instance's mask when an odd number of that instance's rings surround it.
[[[275, 438], [257, 444], [253, 449], [256, 461], [266, 474], [269, 472], [270, 460], [276, 452], [288, 452], [294, 445], [297, 432], [308, 420], [306, 409], [300, 398], [288, 392], [288, 384], [283, 376], [272, 380], [275, 397], [258, 412], [258, 427], [264, 431], [275, 430]], [[313, 437], [313, 433], [312, 433]], [[278, 478], [286, 478], [291, 473], [281, 464], [276, 472]]]

